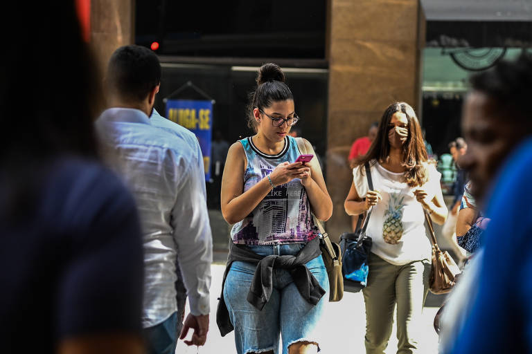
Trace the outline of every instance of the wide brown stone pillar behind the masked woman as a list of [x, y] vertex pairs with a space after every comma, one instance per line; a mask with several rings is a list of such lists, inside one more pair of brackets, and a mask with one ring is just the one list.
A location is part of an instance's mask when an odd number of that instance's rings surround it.
[[334, 239], [351, 230], [344, 199], [353, 141], [394, 101], [419, 114], [424, 26], [419, 0], [330, 0], [328, 6], [327, 187], [334, 211], [327, 231]]

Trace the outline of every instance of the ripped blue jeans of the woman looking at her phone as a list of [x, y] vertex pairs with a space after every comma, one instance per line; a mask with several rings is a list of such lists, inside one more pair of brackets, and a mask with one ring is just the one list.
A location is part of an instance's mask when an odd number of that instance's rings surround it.
[[[252, 245], [250, 248], [263, 256], [295, 255], [304, 245]], [[312, 259], [306, 266], [328, 293], [329, 279], [321, 256]], [[224, 301], [235, 328], [237, 353], [273, 350], [278, 354], [280, 335], [283, 339], [283, 354], [287, 354], [288, 346], [295, 342], [316, 342], [314, 330], [329, 295], [323, 295], [318, 304], [312, 306], [299, 294], [290, 272], [275, 268], [272, 296], [260, 311], [246, 300], [255, 268], [253, 263], [234, 261], [224, 284]]]

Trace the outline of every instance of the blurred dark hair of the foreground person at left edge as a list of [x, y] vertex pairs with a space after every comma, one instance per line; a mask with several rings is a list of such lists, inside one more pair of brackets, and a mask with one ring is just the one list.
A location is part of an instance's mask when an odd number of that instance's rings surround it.
[[74, 1], [8, 1], [1, 12], [3, 26], [8, 17], [24, 17], [17, 35], [32, 39], [0, 56], [0, 183], [9, 185], [5, 205], [24, 209], [20, 204], [39, 192], [51, 160], [97, 158], [101, 81]]

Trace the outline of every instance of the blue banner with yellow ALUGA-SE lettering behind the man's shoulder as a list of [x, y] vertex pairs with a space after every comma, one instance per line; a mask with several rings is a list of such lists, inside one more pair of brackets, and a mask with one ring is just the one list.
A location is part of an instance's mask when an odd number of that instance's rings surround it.
[[210, 100], [167, 100], [166, 118], [195, 133], [202, 148], [205, 180], [211, 178], [211, 127], [213, 102]]

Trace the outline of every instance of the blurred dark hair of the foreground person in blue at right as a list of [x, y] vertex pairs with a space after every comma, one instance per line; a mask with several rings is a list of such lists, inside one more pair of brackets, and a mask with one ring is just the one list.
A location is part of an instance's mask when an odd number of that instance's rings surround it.
[[[502, 60], [488, 71], [472, 75], [475, 91], [484, 93], [497, 104], [497, 114], [505, 123], [532, 124], [532, 57], [523, 53], [515, 61]], [[529, 133], [529, 129], [521, 129]], [[517, 133], [517, 132], [516, 132]]]

